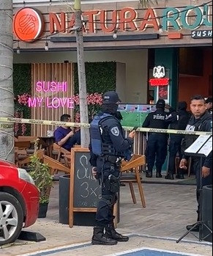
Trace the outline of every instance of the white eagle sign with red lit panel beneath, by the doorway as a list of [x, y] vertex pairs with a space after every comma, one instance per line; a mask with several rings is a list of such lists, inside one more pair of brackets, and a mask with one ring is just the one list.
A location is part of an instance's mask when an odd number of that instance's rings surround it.
[[165, 78], [165, 67], [157, 66], [153, 69], [153, 77], [149, 79], [149, 84], [152, 87], [168, 86], [169, 78]]

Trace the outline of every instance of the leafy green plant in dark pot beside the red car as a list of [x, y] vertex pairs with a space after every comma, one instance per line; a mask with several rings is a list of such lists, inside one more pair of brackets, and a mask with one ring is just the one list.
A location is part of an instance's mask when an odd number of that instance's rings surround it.
[[53, 186], [53, 177], [50, 174], [48, 164], [43, 164], [37, 156], [39, 139], [34, 142], [34, 153], [31, 156], [29, 172], [33, 178], [35, 186], [40, 191], [40, 209], [38, 218], [45, 218], [48, 211], [48, 203], [51, 187]]

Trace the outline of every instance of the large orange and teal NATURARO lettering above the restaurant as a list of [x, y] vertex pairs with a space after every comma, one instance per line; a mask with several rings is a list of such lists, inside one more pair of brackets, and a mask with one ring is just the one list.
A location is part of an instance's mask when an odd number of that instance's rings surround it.
[[[142, 15], [141, 10], [135, 10], [131, 7], [125, 7], [121, 10], [89, 10], [82, 13], [83, 21], [88, 21], [84, 28], [87, 33], [94, 32], [113, 32], [138, 30], [145, 31], [152, 27], [159, 31], [159, 25], [162, 30], [169, 29], [197, 29], [200, 26], [212, 27], [210, 21], [210, 7], [205, 4], [203, 7], [187, 6], [184, 8], [168, 7], [157, 13], [154, 9], [149, 8]], [[162, 17], [162, 18], [159, 18]], [[192, 20], [193, 17], [193, 20]], [[72, 26], [75, 26], [75, 15], [70, 17], [65, 12], [56, 14], [49, 13], [50, 32], [70, 33]]]

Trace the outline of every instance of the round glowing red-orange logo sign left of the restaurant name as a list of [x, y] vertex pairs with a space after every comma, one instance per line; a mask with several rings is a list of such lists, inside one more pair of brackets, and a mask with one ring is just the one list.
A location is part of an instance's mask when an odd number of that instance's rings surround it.
[[43, 34], [45, 20], [42, 13], [34, 8], [24, 7], [13, 19], [13, 31], [19, 40], [34, 42]]

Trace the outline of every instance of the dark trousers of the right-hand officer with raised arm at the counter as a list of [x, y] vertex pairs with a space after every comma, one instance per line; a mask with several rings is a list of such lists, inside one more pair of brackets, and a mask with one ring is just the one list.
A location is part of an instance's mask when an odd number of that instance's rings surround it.
[[182, 159], [182, 136], [171, 135], [169, 142], [169, 158], [168, 158], [168, 172], [173, 174], [175, 172], [175, 158], [179, 153], [179, 158]]

